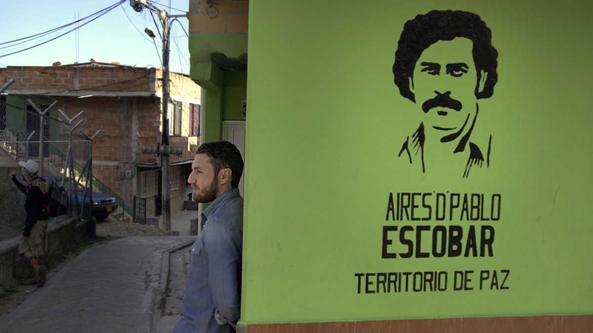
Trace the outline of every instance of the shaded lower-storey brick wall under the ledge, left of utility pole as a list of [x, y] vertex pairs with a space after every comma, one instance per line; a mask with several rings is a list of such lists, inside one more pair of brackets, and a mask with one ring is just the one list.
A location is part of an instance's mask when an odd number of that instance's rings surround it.
[[[160, 137], [160, 99], [157, 97], [56, 97], [59, 107], [72, 117], [84, 110], [78, 129], [101, 133], [93, 142], [93, 174], [130, 207], [133, 179], [122, 180], [119, 171], [135, 172], [137, 163], [154, 164], [157, 158], [142, 154], [142, 145], [152, 145]], [[85, 145], [73, 145], [73, 156], [84, 166]], [[78, 157], [78, 158], [77, 158]]]

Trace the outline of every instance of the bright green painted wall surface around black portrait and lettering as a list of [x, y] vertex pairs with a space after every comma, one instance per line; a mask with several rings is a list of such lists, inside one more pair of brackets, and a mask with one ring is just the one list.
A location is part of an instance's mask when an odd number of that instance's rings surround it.
[[[498, 84], [479, 100], [471, 136], [484, 147], [492, 135], [489, 167], [474, 166], [468, 178], [450, 152], [426, 148], [425, 173], [417, 155], [413, 165], [398, 157], [423, 115], [393, 83], [394, 53], [404, 23], [431, 9], [479, 14], [499, 53]], [[592, 9], [584, 1], [252, 0], [243, 324], [593, 313]], [[437, 193], [498, 195], [500, 216], [468, 220], [460, 208], [451, 219], [393, 221], [390, 193], [431, 193], [428, 205]], [[431, 228], [420, 233], [421, 252], [431, 252], [436, 226], [460, 226], [464, 249], [472, 226], [478, 238], [491, 226], [493, 255], [402, 258], [398, 231], [420, 225]], [[399, 228], [387, 242], [386, 226]], [[415, 235], [404, 238], [417, 244]], [[384, 247], [397, 257], [384, 258]], [[448, 276], [443, 291], [366, 292], [377, 290], [377, 273], [435, 271]], [[462, 290], [455, 271], [473, 271]], [[489, 274], [482, 289], [481, 271]], [[375, 283], [364, 275], [360, 292], [355, 274], [366, 273]]]

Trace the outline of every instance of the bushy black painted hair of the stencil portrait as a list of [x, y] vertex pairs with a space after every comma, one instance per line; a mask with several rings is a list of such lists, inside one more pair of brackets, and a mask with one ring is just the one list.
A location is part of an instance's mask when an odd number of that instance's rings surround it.
[[[413, 76], [416, 62], [424, 50], [439, 40], [466, 37], [473, 41], [474, 64], [478, 75], [476, 98], [489, 98], [498, 81], [498, 52], [492, 46], [491, 35], [486, 23], [472, 12], [433, 10], [407, 21], [397, 43], [396, 61], [393, 64], [393, 81], [400, 88], [400, 94], [416, 102], [414, 93], [410, 91], [409, 78]], [[482, 70], [488, 76], [483, 91], [479, 92]]]

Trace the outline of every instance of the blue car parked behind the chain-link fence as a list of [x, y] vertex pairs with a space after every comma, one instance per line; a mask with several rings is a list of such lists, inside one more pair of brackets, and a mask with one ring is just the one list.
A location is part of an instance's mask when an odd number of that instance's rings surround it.
[[[23, 177], [22, 176], [17, 176], [18, 180], [20, 182], [22, 182], [23, 184], [26, 184], [23, 181]], [[62, 184], [62, 177], [52, 177], [52, 176], [45, 176], [43, 177], [45, 180], [47, 180], [47, 182], [49, 182], [49, 185], [51, 187], [59, 187]], [[66, 181], [64, 182], [64, 190], [66, 191], [66, 193], [68, 193], [68, 191], [70, 190], [70, 185], [69, 185], [69, 179], [66, 178]], [[95, 217], [95, 219], [97, 219], [98, 221], [102, 221], [104, 219], [107, 219], [107, 217], [109, 216], [109, 214], [116, 212], [117, 210], [117, 203], [116, 203], [116, 199], [114, 197], [111, 196], [107, 196], [106, 194], [103, 193], [98, 193], [98, 192], [93, 192], [93, 203], [90, 204], [91, 198], [90, 198], [90, 192], [87, 190], [87, 195], [85, 197], [85, 190], [84, 187], [80, 184], [78, 184], [77, 182], [74, 182], [74, 188], [72, 190], [72, 195], [70, 196], [70, 204], [71, 207], [76, 207], [76, 204], [78, 203], [78, 213], [81, 214], [82, 213], [82, 209], [84, 209], [84, 212], [88, 212], [88, 207], [91, 206], [91, 212], [93, 214], [93, 216]], [[24, 196], [24, 194], [22, 194]], [[67, 198], [67, 194], [66, 194], [66, 198]], [[66, 199], [64, 200], [66, 201]], [[84, 203], [84, 204], [83, 204]]]

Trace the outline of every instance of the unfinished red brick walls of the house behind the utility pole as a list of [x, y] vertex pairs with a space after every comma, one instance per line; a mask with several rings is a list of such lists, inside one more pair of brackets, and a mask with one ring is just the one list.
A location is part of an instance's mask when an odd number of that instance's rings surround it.
[[[85, 122], [76, 129], [92, 135], [101, 130], [93, 143], [93, 174], [104, 185], [133, 206], [138, 190], [136, 166], [155, 164], [154, 155], [142, 153], [142, 146], [161, 142], [162, 71], [145, 68], [9, 66], [0, 68], [0, 79], [15, 79], [11, 94], [34, 95], [34, 100], [58, 100], [69, 117], [84, 110]], [[200, 87], [188, 76], [171, 73], [171, 97], [182, 102], [181, 135], [170, 137], [171, 146], [183, 147], [183, 155], [171, 162], [193, 158], [199, 138], [189, 136], [190, 103], [200, 103]], [[61, 89], [61, 90], [60, 90]], [[66, 91], [68, 90], [68, 91]], [[91, 95], [90, 97], [84, 97]], [[57, 111], [52, 117], [58, 117]], [[173, 110], [170, 110], [170, 112]], [[78, 121], [78, 120], [77, 120]], [[60, 132], [56, 139], [66, 140]], [[74, 139], [81, 139], [74, 137]], [[67, 145], [66, 145], [67, 146]], [[62, 147], [66, 151], [66, 146]], [[74, 143], [75, 161], [84, 166], [90, 151], [85, 142]], [[121, 179], [119, 172], [130, 171], [133, 178]], [[185, 180], [187, 175], [184, 174]], [[171, 192], [173, 212], [183, 208], [184, 186]]]

